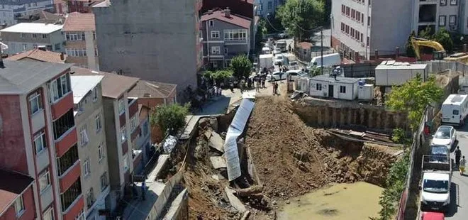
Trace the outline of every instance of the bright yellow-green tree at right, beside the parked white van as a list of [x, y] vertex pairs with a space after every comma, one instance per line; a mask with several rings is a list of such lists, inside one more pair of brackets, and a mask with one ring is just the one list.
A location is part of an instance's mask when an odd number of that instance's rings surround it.
[[442, 89], [435, 83], [435, 76], [431, 75], [427, 82], [423, 82], [418, 74], [400, 87], [392, 87], [386, 94], [386, 105], [390, 109], [404, 111], [408, 114], [409, 125], [412, 131], [418, 128], [426, 106], [439, 101]]

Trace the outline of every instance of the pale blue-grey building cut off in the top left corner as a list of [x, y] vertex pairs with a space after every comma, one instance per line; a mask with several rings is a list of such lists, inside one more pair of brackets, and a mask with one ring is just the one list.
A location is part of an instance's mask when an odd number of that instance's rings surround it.
[[0, 22], [12, 26], [18, 23], [17, 18], [30, 15], [38, 11], [53, 11], [52, 0], [2, 1], [0, 8]]

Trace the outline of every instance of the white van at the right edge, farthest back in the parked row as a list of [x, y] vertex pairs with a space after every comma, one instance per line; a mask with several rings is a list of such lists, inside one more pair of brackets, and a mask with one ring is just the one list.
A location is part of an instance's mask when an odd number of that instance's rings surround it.
[[461, 126], [468, 114], [468, 94], [450, 94], [441, 111], [442, 123]]

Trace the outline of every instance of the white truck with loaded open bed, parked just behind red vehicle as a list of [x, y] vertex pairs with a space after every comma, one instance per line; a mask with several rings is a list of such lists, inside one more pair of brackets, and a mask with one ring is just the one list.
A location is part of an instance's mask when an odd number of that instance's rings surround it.
[[[420, 209], [447, 211], [450, 205], [452, 161], [442, 155], [423, 155]], [[447, 156], [445, 156], [447, 157]]]

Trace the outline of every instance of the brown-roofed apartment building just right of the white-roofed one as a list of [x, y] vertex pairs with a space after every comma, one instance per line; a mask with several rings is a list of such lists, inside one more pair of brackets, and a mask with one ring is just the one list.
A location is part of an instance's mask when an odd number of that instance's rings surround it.
[[105, 155], [111, 187], [106, 207], [113, 210], [118, 199], [123, 196], [123, 187], [132, 180], [133, 176], [132, 149], [135, 148], [133, 144], [138, 137], [140, 123], [137, 100], [128, 97], [128, 91], [135, 86], [138, 78], [81, 67], [72, 67], [72, 72], [74, 76], [104, 76], [101, 81], [104, 108], [102, 126], [106, 131]]

